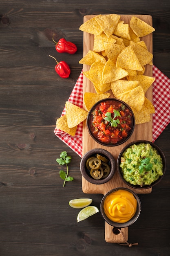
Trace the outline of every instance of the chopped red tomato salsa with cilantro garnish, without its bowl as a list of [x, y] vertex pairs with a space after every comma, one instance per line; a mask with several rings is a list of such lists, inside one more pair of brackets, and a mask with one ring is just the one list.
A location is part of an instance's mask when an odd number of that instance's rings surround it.
[[132, 112], [123, 103], [114, 100], [100, 102], [93, 111], [91, 131], [105, 144], [117, 144], [132, 130]]

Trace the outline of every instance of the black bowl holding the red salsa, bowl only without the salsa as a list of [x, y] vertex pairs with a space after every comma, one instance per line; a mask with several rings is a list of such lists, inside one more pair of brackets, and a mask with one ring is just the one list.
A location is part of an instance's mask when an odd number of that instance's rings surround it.
[[[118, 140], [118, 141], [113, 141], [112, 140], [112, 142], [110, 142], [110, 141], [108, 141], [108, 142], [104, 142], [104, 141], [101, 141], [101, 139], [99, 139], [98, 137], [97, 137], [97, 134], [98, 134], [98, 132], [94, 132], [94, 130], [95, 130], [95, 128], [94, 128], [94, 126], [93, 126], [93, 124], [92, 124], [92, 120], [93, 120], [93, 113], [94, 113], [94, 111], [95, 111], [95, 109], [96, 108], [98, 108], [99, 107], [99, 105], [102, 103], [102, 102], [108, 102], [110, 105], [115, 105], [115, 106], [124, 106], [124, 108], [126, 109], [126, 110], [123, 110], [124, 112], [125, 112], [125, 116], [127, 116], [128, 114], [126, 114], [127, 113], [127, 110], [129, 110], [130, 111], [130, 119], [131, 119], [131, 124], [130, 124], [130, 130], [128, 131], [128, 136], [127, 137], [122, 137], [120, 140]], [[112, 114], [112, 117], [113, 117], [113, 115], [114, 114]], [[122, 117], [122, 119], [124, 119], [125, 117]], [[129, 118], [129, 117], [126, 117], [127, 119]], [[115, 119], [117, 119], [117, 117], [115, 118]], [[124, 119], [123, 121], [125, 122], [125, 120], [126, 119]], [[128, 120], [129, 121], [129, 120]], [[127, 121], [127, 122], [128, 122]], [[107, 99], [102, 99], [102, 100], [100, 100], [100, 101], [98, 101], [97, 103], [95, 103], [95, 105], [91, 108], [91, 110], [88, 112], [88, 116], [87, 116], [87, 120], [86, 120], [86, 124], [87, 124], [87, 128], [88, 128], [88, 132], [89, 132], [89, 134], [91, 135], [91, 137], [97, 142], [97, 143], [99, 143], [99, 144], [101, 144], [101, 145], [103, 145], [103, 146], [110, 146], [110, 147], [113, 147], [113, 146], [119, 146], [119, 145], [121, 145], [121, 144], [123, 144], [124, 142], [126, 142], [129, 138], [130, 138], [130, 136], [132, 135], [132, 133], [133, 133], [133, 131], [134, 131], [134, 129], [135, 129], [135, 117], [134, 117], [134, 114], [133, 114], [133, 112], [132, 112], [132, 110], [131, 110], [131, 108], [124, 102], [124, 101], [121, 101], [121, 100], [119, 100], [119, 99], [115, 99], [115, 98], [107, 98]], [[122, 129], [122, 127], [119, 127], [120, 125], [118, 124], [118, 126], [117, 126], [117, 128], [119, 129], [119, 130], [121, 130]], [[122, 131], [121, 131], [122, 132]], [[120, 132], [120, 133], [121, 133]], [[121, 133], [121, 135], [123, 135], [123, 133]]]

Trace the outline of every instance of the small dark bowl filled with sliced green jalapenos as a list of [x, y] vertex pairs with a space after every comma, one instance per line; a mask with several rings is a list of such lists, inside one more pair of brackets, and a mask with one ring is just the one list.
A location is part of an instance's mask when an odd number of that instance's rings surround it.
[[105, 149], [89, 150], [80, 162], [82, 176], [93, 184], [104, 184], [115, 174], [116, 163], [113, 155]]

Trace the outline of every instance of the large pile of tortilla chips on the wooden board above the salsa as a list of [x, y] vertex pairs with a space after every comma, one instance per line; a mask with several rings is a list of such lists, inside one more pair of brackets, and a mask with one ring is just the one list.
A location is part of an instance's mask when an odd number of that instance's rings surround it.
[[117, 14], [97, 15], [79, 29], [94, 35], [93, 49], [79, 61], [90, 66], [83, 74], [96, 91], [84, 94], [86, 109], [89, 111], [99, 95], [108, 98], [106, 92], [111, 90], [132, 108], [136, 124], [150, 121], [155, 108], [145, 94], [155, 79], [144, 72], [146, 65], [152, 65], [153, 55], [140, 38], [155, 29], [135, 16], [126, 24]]

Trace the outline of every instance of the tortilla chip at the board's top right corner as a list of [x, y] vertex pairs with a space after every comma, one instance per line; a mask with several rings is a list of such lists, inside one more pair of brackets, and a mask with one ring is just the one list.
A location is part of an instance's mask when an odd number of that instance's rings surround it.
[[135, 16], [132, 16], [130, 20], [130, 27], [139, 37], [146, 36], [155, 31], [155, 29], [151, 27], [148, 23]]

